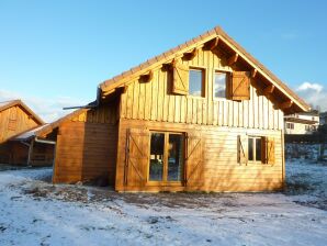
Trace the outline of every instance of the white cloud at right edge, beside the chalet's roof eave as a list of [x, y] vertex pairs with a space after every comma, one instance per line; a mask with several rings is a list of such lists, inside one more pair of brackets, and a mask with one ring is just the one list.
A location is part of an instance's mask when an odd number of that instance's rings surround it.
[[296, 88], [296, 92], [314, 108], [319, 107], [327, 111], [327, 91], [324, 86], [316, 82], [303, 82]]

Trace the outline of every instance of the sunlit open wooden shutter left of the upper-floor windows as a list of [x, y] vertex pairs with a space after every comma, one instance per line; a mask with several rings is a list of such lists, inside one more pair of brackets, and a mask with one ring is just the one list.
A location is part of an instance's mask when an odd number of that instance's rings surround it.
[[189, 67], [181, 63], [174, 63], [172, 66], [173, 66], [172, 93], [188, 94], [189, 93]]

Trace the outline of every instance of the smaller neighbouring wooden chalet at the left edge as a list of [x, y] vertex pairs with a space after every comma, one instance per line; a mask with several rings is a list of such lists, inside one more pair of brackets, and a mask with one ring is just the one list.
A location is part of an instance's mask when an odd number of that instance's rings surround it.
[[42, 127], [44, 122], [21, 100], [0, 102], [0, 164], [53, 165], [54, 144], [32, 134]]

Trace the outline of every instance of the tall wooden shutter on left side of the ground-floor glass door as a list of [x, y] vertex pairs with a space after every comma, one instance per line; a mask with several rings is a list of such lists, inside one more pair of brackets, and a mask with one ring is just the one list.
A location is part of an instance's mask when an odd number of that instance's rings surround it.
[[143, 187], [146, 183], [148, 166], [149, 131], [129, 128], [127, 137], [124, 182], [131, 187]]

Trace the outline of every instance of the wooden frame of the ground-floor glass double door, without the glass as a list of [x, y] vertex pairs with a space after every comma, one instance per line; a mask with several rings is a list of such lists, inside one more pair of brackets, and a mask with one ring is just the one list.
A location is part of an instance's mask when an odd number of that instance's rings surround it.
[[[149, 149], [148, 149], [148, 161], [147, 161], [147, 174], [146, 174], [146, 185], [147, 186], [183, 186], [184, 183], [184, 174], [185, 174], [185, 150], [187, 150], [187, 137], [184, 132], [173, 132], [173, 131], [160, 131], [160, 130], [150, 130], [149, 131]], [[162, 180], [150, 180], [150, 148], [151, 148], [151, 134], [153, 133], [160, 133], [165, 134], [164, 138], [164, 167], [162, 167]], [[181, 172], [181, 180], [168, 180], [168, 156], [169, 156], [169, 135], [181, 135], [182, 143], [183, 143], [183, 154], [182, 154], [182, 172]]]

